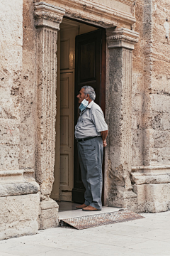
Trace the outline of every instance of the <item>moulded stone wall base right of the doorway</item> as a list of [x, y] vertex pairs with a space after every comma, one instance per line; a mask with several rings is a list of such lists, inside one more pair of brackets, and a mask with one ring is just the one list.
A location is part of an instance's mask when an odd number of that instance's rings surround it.
[[170, 166], [132, 167], [137, 213], [160, 213], [170, 209]]

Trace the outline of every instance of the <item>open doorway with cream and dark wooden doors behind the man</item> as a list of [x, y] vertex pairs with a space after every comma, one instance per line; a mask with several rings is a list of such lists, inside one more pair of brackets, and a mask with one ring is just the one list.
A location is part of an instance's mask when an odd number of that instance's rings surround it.
[[57, 39], [57, 85], [60, 86], [57, 86], [55, 182], [51, 193], [55, 201], [84, 203], [74, 140], [78, 118], [76, 96], [83, 85], [93, 86], [96, 103], [104, 112], [105, 61], [105, 30], [64, 18]]

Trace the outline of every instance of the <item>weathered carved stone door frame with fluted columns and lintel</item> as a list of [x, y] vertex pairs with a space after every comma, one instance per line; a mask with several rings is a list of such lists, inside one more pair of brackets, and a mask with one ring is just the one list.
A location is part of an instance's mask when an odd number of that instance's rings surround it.
[[[132, 5], [132, 0], [128, 0]], [[37, 64], [36, 72], [36, 93], [37, 93], [37, 130], [36, 130], [36, 154], [35, 154], [35, 178], [40, 184], [40, 206], [42, 213], [46, 209], [57, 209], [57, 204], [52, 202], [50, 204], [50, 193], [52, 191], [52, 183], [54, 181], [54, 164], [55, 164], [55, 116], [56, 116], [56, 87], [57, 87], [57, 31], [60, 30], [60, 23], [62, 18], [66, 16], [74, 17], [74, 20], [86, 20], [91, 16], [91, 4], [87, 9], [84, 9], [83, 3], [79, 3], [81, 9], [78, 16], [77, 6], [72, 2], [70, 6], [65, 6], [61, 1], [57, 0], [55, 5], [38, 2], [34, 4], [34, 18], [35, 28], [37, 31], [37, 42], [35, 59]], [[60, 6], [57, 7], [57, 6]], [[66, 7], [62, 9], [61, 7]], [[132, 6], [131, 6], [132, 7]], [[98, 8], [101, 15], [98, 16]], [[132, 95], [132, 50], [135, 43], [138, 41], [139, 34], [132, 31], [128, 26], [135, 23], [135, 16], [133, 16], [133, 7], [130, 8], [130, 14], [120, 14], [119, 11], [106, 10], [98, 6], [94, 9], [94, 16], [91, 23], [99, 23], [101, 26], [107, 28], [107, 60], [106, 60], [106, 120], [108, 120], [108, 127], [115, 127], [115, 124], [120, 124], [125, 127], [123, 132], [115, 134], [115, 139], [118, 139], [119, 145], [115, 149], [113, 144], [112, 133], [108, 134], [108, 147], [105, 150], [106, 156], [106, 183], [108, 181], [108, 188], [106, 188], [106, 205], [108, 206], [129, 206], [128, 202], [132, 199], [132, 205], [135, 203], [135, 196], [132, 193], [132, 184], [130, 182], [130, 171], [132, 169], [132, 105], [130, 102]], [[82, 10], [84, 11], [82, 12]], [[104, 21], [101, 22], [101, 16]], [[67, 17], [68, 18], [68, 17]], [[89, 21], [89, 20], [88, 20]], [[90, 25], [90, 22], [87, 23]], [[117, 28], [115, 28], [117, 27]], [[50, 35], [50, 37], [49, 37]], [[52, 40], [51, 40], [52, 38]], [[49, 53], [51, 59], [49, 60]], [[119, 57], [121, 54], [121, 58]], [[114, 66], [113, 73], [113, 57], [117, 58], [117, 63]], [[46, 61], [49, 60], [49, 61]], [[125, 65], [125, 60], [130, 60], [128, 65]], [[49, 82], [47, 78], [52, 82]], [[120, 79], [121, 78], [121, 79]], [[113, 80], [116, 80], [116, 88], [120, 89], [121, 93], [117, 99], [118, 90], [113, 90]], [[126, 83], [128, 81], [128, 84]], [[51, 93], [49, 93], [51, 92]], [[127, 93], [128, 92], [128, 93]], [[115, 101], [111, 99], [115, 97]], [[114, 104], [116, 103], [116, 105]], [[108, 106], [109, 105], [109, 106]], [[117, 106], [125, 106], [126, 111], [120, 112]], [[128, 107], [127, 107], [128, 106]], [[113, 110], [119, 110], [114, 119], [108, 112], [108, 107]], [[117, 107], [117, 109], [116, 109]], [[48, 111], [49, 110], [49, 111]], [[50, 113], [50, 114], [49, 114]], [[48, 118], [47, 118], [48, 117]], [[114, 122], [113, 122], [114, 121]], [[47, 125], [48, 124], [48, 125]], [[128, 132], [128, 139], [127, 134]], [[124, 146], [122, 146], [124, 145]], [[116, 150], [117, 154], [113, 154]], [[121, 156], [118, 158], [118, 155]], [[50, 161], [47, 161], [50, 159]], [[118, 191], [118, 183], [113, 182], [113, 178], [118, 167], [122, 166], [123, 176], [125, 176], [124, 187], [121, 187], [120, 193]], [[113, 190], [113, 186], [115, 190]], [[124, 190], [122, 190], [122, 188]], [[123, 194], [125, 193], [125, 194]], [[131, 206], [130, 206], [131, 208]], [[57, 213], [57, 210], [55, 211]], [[43, 223], [47, 213], [40, 215], [41, 223]], [[51, 211], [52, 218], [54, 212]], [[48, 219], [50, 217], [48, 216]], [[56, 218], [56, 217], [55, 217]], [[45, 223], [47, 223], [45, 221]], [[41, 228], [46, 225], [42, 224]], [[48, 226], [49, 228], [49, 226]]]

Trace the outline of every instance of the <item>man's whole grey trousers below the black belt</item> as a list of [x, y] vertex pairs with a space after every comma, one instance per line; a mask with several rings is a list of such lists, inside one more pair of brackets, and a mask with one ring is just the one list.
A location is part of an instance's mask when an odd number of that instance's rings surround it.
[[86, 206], [101, 210], [103, 141], [101, 137], [78, 142], [81, 178]]

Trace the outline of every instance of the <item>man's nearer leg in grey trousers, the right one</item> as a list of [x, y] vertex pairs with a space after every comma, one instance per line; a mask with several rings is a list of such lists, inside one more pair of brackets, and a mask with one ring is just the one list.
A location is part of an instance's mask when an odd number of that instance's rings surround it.
[[86, 182], [92, 196], [90, 206], [101, 210], [103, 141], [101, 137], [96, 137], [82, 142], [82, 144]]

